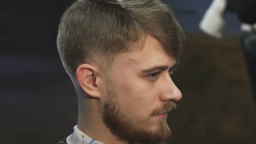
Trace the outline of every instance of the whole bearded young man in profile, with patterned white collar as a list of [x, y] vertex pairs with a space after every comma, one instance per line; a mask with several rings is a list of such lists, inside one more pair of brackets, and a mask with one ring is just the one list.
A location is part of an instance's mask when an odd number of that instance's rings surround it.
[[78, 0], [63, 14], [59, 55], [78, 124], [58, 144], [156, 144], [181, 92], [170, 75], [184, 34], [160, 0]]

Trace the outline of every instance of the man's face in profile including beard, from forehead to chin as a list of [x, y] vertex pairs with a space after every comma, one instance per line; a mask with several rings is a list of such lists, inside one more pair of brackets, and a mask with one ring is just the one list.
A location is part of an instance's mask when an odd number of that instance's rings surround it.
[[176, 108], [173, 101], [181, 99], [170, 77], [175, 64], [151, 36], [142, 51], [115, 58], [106, 82], [102, 115], [105, 125], [120, 140], [150, 144], [171, 135], [167, 112]]

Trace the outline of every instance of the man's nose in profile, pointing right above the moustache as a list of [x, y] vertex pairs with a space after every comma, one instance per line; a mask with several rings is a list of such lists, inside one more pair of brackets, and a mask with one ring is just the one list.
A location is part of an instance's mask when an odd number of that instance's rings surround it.
[[180, 101], [181, 100], [181, 91], [172, 81], [171, 77], [168, 75], [168, 78], [165, 80], [161, 93], [161, 101]]

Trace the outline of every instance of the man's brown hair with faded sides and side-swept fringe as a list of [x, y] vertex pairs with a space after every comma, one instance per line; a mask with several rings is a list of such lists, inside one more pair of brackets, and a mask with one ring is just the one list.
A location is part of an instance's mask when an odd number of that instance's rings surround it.
[[148, 35], [179, 60], [184, 33], [161, 0], [77, 0], [62, 15], [57, 48], [77, 84], [79, 63], [89, 59], [106, 70], [117, 54], [142, 50]]

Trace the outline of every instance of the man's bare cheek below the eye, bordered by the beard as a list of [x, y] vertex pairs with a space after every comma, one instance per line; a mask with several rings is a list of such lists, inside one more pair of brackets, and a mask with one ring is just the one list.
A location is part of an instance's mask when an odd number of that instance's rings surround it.
[[[124, 78], [125, 79], [125, 78]], [[157, 103], [157, 91], [138, 79], [126, 79], [115, 87], [126, 115], [146, 121]]]

